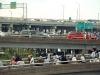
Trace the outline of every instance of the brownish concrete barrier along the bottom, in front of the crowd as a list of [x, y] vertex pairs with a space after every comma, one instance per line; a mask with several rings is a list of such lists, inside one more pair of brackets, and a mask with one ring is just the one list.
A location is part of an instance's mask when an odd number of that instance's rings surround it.
[[0, 75], [52, 75], [84, 71], [100, 71], [100, 63], [7, 66], [0, 68]]

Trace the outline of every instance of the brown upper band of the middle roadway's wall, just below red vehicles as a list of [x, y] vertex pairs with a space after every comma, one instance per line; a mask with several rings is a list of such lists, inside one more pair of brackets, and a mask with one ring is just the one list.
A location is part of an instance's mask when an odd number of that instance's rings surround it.
[[100, 40], [67, 40], [65, 37], [0, 37], [0, 42], [63, 43], [63, 44], [99, 44]]

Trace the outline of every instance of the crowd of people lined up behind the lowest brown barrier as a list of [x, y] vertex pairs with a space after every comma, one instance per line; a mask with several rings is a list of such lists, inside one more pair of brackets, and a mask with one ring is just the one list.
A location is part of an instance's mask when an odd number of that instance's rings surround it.
[[[32, 55], [28, 55], [27, 58], [28, 64], [36, 64], [36, 63], [54, 63], [54, 64], [65, 64], [65, 63], [86, 63], [87, 58], [85, 54], [73, 54], [71, 57], [68, 57], [64, 54], [57, 55], [56, 53], [48, 53], [47, 56], [44, 58], [42, 56], [33, 57]], [[93, 48], [89, 62], [100, 62], [100, 51]], [[22, 65], [25, 64], [25, 61], [19, 55], [12, 56], [10, 60], [10, 65]]]

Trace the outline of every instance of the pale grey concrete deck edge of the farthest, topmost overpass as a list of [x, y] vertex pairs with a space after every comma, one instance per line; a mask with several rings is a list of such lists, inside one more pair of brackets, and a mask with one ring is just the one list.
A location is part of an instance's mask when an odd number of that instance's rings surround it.
[[[85, 20], [84, 20], [85, 21]], [[0, 24], [13, 24], [13, 25], [36, 25], [36, 26], [75, 26], [76, 21], [65, 21], [61, 22], [60, 20], [41, 20], [41, 19], [22, 19], [22, 18], [9, 18], [9, 17], [0, 17]], [[100, 22], [93, 23], [94, 28], [100, 26]], [[100, 27], [99, 27], [100, 28]]]

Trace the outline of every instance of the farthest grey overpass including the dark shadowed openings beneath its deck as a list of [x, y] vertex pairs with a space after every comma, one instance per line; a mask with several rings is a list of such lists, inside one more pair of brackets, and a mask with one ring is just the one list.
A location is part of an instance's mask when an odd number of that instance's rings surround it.
[[[85, 21], [84, 21], [85, 22]], [[36, 30], [45, 33], [55, 32], [57, 34], [66, 34], [69, 31], [75, 31], [76, 21], [65, 20], [43, 20], [43, 19], [23, 19], [0, 17], [0, 31], [20, 34], [22, 30]], [[100, 22], [93, 23], [93, 29], [90, 31], [100, 31]]]

